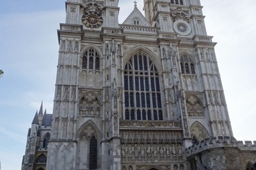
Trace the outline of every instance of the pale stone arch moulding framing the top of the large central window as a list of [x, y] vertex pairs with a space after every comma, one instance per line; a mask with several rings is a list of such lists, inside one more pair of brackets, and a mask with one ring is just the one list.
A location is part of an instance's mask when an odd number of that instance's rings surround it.
[[[131, 50], [128, 50], [124, 53], [124, 66], [128, 63], [129, 59], [133, 56], [133, 54], [136, 54], [137, 52], [142, 52], [148, 56], [148, 58], [153, 61], [154, 65], [157, 68], [157, 71], [159, 72], [159, 75], [163, 72], [161, 58], [155, 54], [152, 50], [148, 49], [147, 47], [138, 46], [134, 47]], [[160, 55], [160, 54], [159, 54]]]

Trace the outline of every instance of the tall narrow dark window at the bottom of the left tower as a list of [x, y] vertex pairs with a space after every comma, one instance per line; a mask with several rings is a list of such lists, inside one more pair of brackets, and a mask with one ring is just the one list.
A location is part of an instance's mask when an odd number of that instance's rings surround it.
[[95, 136], [90, 141], [90, 164], [89, 169], [97, 169], [97, 139]]

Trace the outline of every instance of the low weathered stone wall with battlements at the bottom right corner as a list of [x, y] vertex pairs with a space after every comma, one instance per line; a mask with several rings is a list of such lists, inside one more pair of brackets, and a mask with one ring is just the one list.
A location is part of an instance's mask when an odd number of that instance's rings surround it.
[[256, 162], [255, 142], [236, 141], [234, 137], [211, 137], [186, 149], [190, 169], [246, 169], [248, 162]]

